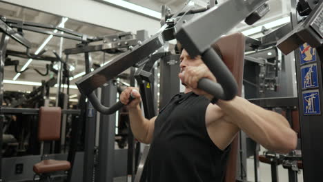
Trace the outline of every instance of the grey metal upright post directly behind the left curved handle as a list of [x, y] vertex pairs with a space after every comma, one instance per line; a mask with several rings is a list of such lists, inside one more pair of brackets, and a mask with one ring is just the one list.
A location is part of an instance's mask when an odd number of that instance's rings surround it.
[[[102, 88], [101, 103], [113, 105], [117, 101], [117, 85], [113, 81], [108, 81]], [[99, 132], [99, 158], [97, 177], [95, 181], [113, 181], [115, 163], [115, 119], [116, 114], [101, 114]]]

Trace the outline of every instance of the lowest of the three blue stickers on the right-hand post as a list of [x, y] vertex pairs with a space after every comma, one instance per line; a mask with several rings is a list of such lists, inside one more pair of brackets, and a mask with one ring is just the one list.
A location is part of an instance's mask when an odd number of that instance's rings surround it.
[[303, 92], [303, 114], [321, 114], [319, 90]]

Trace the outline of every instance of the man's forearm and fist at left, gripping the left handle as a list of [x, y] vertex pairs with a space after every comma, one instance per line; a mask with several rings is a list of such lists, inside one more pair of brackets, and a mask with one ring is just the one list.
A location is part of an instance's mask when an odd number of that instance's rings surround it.
[[[135, 99], [129, 103], [130, 93]], [[139, 103], [141, 96], [137, 88], [128, 87], [120, 95], [121, 103], [127, 105], [129, 110], [130, 127], [135, 138], [141, 143], [150, 143], [153, 139], [156, 117], [148, 120], [141, 112]]]

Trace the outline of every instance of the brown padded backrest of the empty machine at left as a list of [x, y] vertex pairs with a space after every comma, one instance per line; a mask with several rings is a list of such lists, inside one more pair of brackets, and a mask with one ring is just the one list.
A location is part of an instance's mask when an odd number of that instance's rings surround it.
[[61, 137], [61, 108], [41, 107], [39, 109], [38, 139], [54, 141]]

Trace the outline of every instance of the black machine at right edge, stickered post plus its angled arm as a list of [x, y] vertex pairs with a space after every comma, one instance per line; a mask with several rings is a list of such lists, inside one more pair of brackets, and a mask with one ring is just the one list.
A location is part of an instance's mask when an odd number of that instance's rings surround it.
[[[306, 5], [307, 8], [300, 8]], [[304, 181], [317, 181], [323, 173], [322, 145], [322, 59], [323, 59], [323, 1], [291, 0], [293, 30], [277, 42], [284, 54], [294, 50]], [[298, 14], [296, 11], [298, 10]], [[307, 10], [306, 10], [307, 9]], [[307, 17], [300, 17], [306, 15]]]

